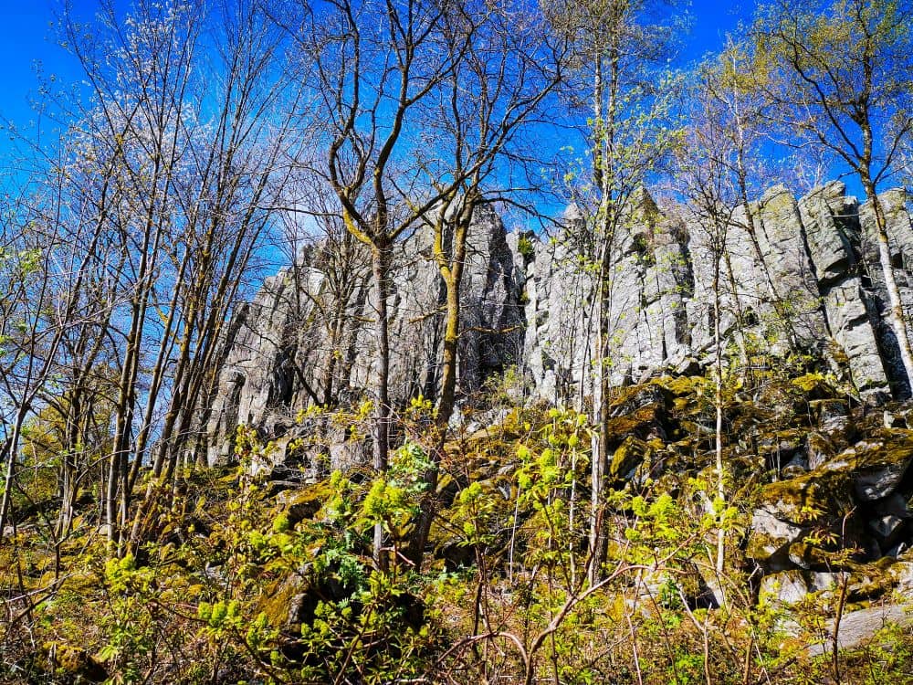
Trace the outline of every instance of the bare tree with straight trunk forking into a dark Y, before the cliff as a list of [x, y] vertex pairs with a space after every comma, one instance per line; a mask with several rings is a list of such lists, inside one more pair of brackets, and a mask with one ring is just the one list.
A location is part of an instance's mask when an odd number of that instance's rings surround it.
[[[419, 142], [411, 128], [419, 105], [441, 87], [454, 54], [442, 28], [447, 5], [341, 2], [302, 5], [278, 17], [312, 64], [319, 94], [316, 121], [326, 156], [315, 168], [340, 205], [344, 226], [371, 253], [376, 316], [373, 467], [387, 469], [390, 450], [390, 312], [394, 243], [436, 205], [440, 193], [417, 184], [401, 164]], [[374, 563], [387, 564], [383, 527], [374, 531]]]

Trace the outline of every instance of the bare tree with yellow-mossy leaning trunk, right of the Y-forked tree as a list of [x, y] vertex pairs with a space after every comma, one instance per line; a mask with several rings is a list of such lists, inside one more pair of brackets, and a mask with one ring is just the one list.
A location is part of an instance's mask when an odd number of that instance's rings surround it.
[[[545, 16], [522, 3], [457, 4], [443, 29], [453, 68], [423, 102], [422, 120], [437, 144], [418, 148], [414, 161], [439, 197], [422, 217], [432, 229], [432, 256], [445, 290], [435, 464], [456, 407], [469, 230], [482, 205], [519, 204], [530, 190], [540, 189], [539, 170], [530, 174], [528, 164], [541, 155], [530, 150], [526, 134], [546, 113], [569, 54], [566, 40], [551, 37]], [[430, 493], [436, 477], [436, 469], [427, 474]], [[419, 566], [433, 514], [433, 502], [427, 501], [410, 549]]]

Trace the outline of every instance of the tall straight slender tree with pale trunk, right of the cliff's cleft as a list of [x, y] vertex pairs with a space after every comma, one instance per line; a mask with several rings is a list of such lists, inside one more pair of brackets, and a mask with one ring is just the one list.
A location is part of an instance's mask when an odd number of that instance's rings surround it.
[[585, 108], [590, 154], [572, 199], [586, 217], [584, 255], [596, 274], [597, 343], [594, 359], [591, 508], [593, 582], [602, 575], [607, 538], [602, 525], [607, 484], [613, 357], [614, 259], [625, 222], [635, 219], [637, 191], [671, 149], [666, 58], [672, 41], [669, 16], [659, 3], [593, 0], [551, 9], [555, 30], [569, 38], [577, 57], [572, 95]]

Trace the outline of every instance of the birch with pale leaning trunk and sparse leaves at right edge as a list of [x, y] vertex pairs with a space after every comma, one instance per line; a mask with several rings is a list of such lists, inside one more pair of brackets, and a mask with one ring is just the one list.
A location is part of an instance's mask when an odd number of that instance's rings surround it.
[[827, 153], [855, 176], [872, 206], [905, 393], [913, 352], [878, 191], [897, 173], [913, 136], [911, 31], [908, 7], [890, 0], [778, 2], [761, 9], [752, 29], [757, 51], [768, 56], [758, 83], [776, 105], [786, 140]]

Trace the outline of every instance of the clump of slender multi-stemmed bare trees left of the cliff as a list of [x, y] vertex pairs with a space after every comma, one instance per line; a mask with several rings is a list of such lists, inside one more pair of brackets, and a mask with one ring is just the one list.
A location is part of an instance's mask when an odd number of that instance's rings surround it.
[[73, 220], [107, 248], [93, 263], [112, 295], [94, 334], [115, 351], [104, 499], [121, 551], [154, 521], [156, 486], [203, 439], [223, 331], [271, 228], [299, 109], [297, 79], [279, 66], [284, 37], [257, 4], [205, 9], [141, 3], [123, 20], [103, 5], [89, 26], [63, 23], [91, 90], [69, 112], [79, 146], [67, 178]]

